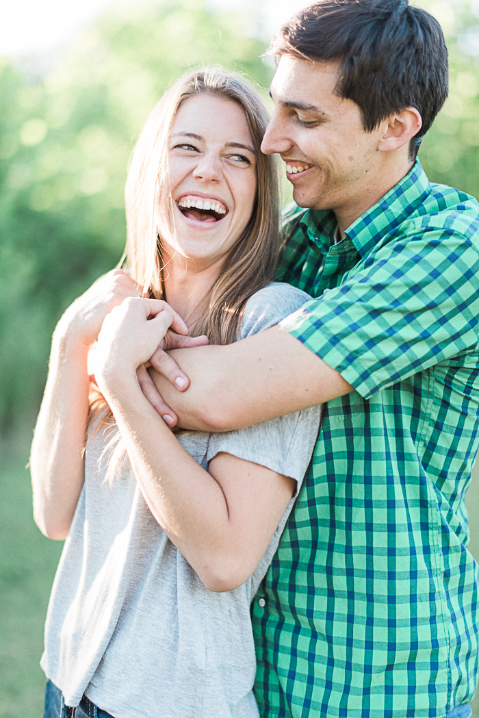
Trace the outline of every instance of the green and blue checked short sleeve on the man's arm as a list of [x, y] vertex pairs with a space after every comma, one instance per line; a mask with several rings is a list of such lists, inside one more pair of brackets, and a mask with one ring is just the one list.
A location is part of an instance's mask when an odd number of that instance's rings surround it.
[[453, 225], [411, 225], [282, 322], [364, 398], [478, 342], [478, 248]]

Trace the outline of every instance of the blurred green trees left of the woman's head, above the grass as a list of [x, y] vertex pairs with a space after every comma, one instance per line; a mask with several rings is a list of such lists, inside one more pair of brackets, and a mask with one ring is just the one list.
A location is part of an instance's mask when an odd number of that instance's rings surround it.
[[265, 47], [241, 14], [173, 0], [109, 11], [39, 83], [0, 65], [4, 429], [37, 409], [62, 311], [121, 256], [126, 165], [154, 103], [200, 63], [267, 86]]

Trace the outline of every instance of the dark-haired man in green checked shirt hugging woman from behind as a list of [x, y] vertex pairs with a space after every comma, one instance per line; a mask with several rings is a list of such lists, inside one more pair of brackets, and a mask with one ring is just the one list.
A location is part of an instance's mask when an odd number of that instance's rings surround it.
[[[466, 717], [479, 205], [430, 185], [415, 160], [447, 95], [444, 39], [406, 0], [324, 0], [271, 52], [263, 149], [284, 159], [299, 205], [279, 278], [315, 298], [250, 339], [176, 353], [190, 388], [155, 376], [166, 404], [152, 401], [213, 431], [326, 402], [254, 601], [261, 714]], [[172, 358], [153, 363], [184, 381]]]

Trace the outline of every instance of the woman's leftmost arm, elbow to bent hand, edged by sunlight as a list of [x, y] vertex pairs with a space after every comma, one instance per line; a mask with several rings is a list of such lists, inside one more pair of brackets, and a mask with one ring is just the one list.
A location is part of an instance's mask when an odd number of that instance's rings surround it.
[[30, 457], [34, 519], [50, 538], [68, 535], [83, 486], [88, 351], [106, 314], [136, 294], [134, 281], [113, 270], [73, 302], [55, 329]]

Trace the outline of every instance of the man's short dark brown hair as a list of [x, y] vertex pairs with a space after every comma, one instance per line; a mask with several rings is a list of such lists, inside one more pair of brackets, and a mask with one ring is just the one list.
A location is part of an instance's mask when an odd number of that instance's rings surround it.
[[447, 98], [440, 24], [407, 0], [320, 0], [283, 25], [267, 54], [340, 62], [335, 92], [358, 105], [368, 132], [417, 108], [422, 128], [411, 139], [411, 159]]

